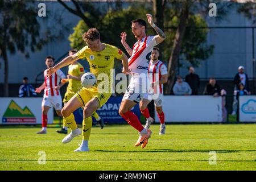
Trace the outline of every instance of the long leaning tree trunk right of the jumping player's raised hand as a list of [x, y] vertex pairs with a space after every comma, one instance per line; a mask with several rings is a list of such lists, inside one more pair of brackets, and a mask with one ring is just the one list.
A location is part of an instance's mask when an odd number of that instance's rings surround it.
[[172, 46], [171, 56], [168, 63], [168, 82], [167, 82], [166, 94], [171, 93], [172, 85], [174, 85], [176, 68], [177, 68], [177, 63], [180, 55], [180, 47], [183, 41], [183, 37], [186, 29], [186, 23], [188, 19], [188, 12], [189, 12], [189, 3], [187, 1], [184, 1], [181, 9], [180, 21], [177, 26], [177, 30], [174, 38], [174, 44]]

